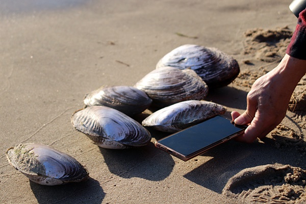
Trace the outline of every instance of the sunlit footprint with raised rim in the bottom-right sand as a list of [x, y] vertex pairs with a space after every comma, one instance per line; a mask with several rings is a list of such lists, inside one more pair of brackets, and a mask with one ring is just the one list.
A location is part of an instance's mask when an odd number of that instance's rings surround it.
[[247, 168], [227, 182], [222, 194], [240, 203], [306, 203], [306, 170], [282, 164]]

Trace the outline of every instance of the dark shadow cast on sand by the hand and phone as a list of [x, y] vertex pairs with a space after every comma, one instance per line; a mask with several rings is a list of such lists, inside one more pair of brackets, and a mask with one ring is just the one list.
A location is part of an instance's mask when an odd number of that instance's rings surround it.
[[252, 144], [235, 141], [223, 143], [200, 156], [210, 156], [213, 159], [185, 174], [184, 177], [221, 194], [227, 181], [245, 168], [274, 163], [306, 167], [306, 164], [302, 162], [303, 158], [294, 159], [298, 154], [296, 151], [277, 149], [269, 145], [275, 141], [270, 138], [265, 138], [264, 141], [265, 143]]

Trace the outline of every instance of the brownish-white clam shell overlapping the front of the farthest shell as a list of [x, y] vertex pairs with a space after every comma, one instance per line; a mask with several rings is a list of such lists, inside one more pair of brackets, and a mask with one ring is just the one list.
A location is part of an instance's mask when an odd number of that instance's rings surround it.
[[208, 86], [191, 69], [162, 67], [146, 74], [135, 87], [145, 91], [152, 106], [163, 108], [184, 100], [206, 97]]

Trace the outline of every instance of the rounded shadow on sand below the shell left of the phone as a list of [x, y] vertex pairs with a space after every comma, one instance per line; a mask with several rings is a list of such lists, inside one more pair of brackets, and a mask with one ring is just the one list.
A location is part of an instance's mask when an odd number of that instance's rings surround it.
[[141, 177], [161, 181], [169, 176], [174, 166], [172, 157], [157, 149], [152, 142], [131, 149], [99, 149], [109, 171], [125, 179]]

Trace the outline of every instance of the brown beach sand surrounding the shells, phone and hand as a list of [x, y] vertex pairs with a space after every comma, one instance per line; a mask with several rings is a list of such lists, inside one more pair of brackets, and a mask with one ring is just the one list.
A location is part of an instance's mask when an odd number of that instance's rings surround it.
[[[43, 3], [44, 2], [44, 3]], [[3, 1], [0, 22], [0, 203], [305, 203], [303, 78], [286, 118], [263, 141], [230, 141], [188, 162], [156, 149], [97, 147], [70, 117], [102, 85], [133, 86], [183, 44], [217, 47], [241, 73], [207, 100], [243, 112], [258, 77], [284, 55], [291, 1]], [[144, 117], [144, 116], [141, 116]], [[40, 186], [10, 166], [21, 142], [86, 165], [80, 184]]]

